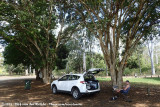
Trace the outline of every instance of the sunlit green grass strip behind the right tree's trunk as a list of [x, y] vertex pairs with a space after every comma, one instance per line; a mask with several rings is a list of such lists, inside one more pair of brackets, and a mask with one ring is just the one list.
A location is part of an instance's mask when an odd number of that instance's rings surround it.
[[[99, 81], [110, 81], [111, 78], [106, 77], [97, 77], [97, 80]], [[150, 85], [160, 85], [160, 78], [153, 77], [153, 78], [127, 78], [124, 77], [123, 81], [129, 80], [131, 83], [135, 84], [150, 84]]]

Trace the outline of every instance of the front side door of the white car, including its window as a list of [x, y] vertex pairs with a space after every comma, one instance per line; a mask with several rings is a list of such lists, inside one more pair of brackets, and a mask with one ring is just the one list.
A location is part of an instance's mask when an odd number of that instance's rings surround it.
[[65, 75], [65, 76], [63, 76], [62, 78], [60, 78], [59, 80], [58, 80], [58, 84], [57, 84], [57, 89], [58, 90], [61, 90], [61, 91], [67, 91], [67, 86], [66, 86], [66, 84], [67, 84], [67, 82], [68, 82], [68, 77], [69, 77], [69, 75]]

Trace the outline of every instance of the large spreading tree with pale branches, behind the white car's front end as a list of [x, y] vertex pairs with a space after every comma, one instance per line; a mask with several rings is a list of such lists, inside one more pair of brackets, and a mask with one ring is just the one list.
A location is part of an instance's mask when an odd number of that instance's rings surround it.
[[1, 1], [0, 36], [25, 53], [43, 74], [44, 83], [50, 82], [55, 67], [58, 47], [70, 36], [64, 30], [54, 34], [56, 26], [56, 2], [52, 0]]

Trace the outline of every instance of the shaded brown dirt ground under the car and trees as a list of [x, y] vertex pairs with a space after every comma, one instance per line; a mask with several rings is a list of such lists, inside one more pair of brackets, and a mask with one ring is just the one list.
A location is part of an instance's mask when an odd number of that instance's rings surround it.
[[125, 102], [122, 97], [110, 101], [112, 97], [110, 83], [100, 82], [99, 93], [84, 95], [81, 99], [74, 100], [70, 94], [53, 95], [50, 84], [43, 84], [33, 78], [30, 78], [31, 89], [25, 90], [25, 79], [0, 80], [1, 107], [160, 107], [159, 86], [150, 89], [150, 96], [147, 95], [146, 87], [132, 86], [129, 92], [132, 102]]

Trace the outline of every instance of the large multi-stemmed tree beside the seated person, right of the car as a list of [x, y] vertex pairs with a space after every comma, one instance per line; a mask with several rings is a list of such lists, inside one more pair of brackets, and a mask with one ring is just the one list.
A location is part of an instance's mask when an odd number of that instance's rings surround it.
[[159, 0], [70, 0], [69, 5], [73, 19], [99, 39], [112, 83], [121, 88], [128, 57], [158, 22]]

